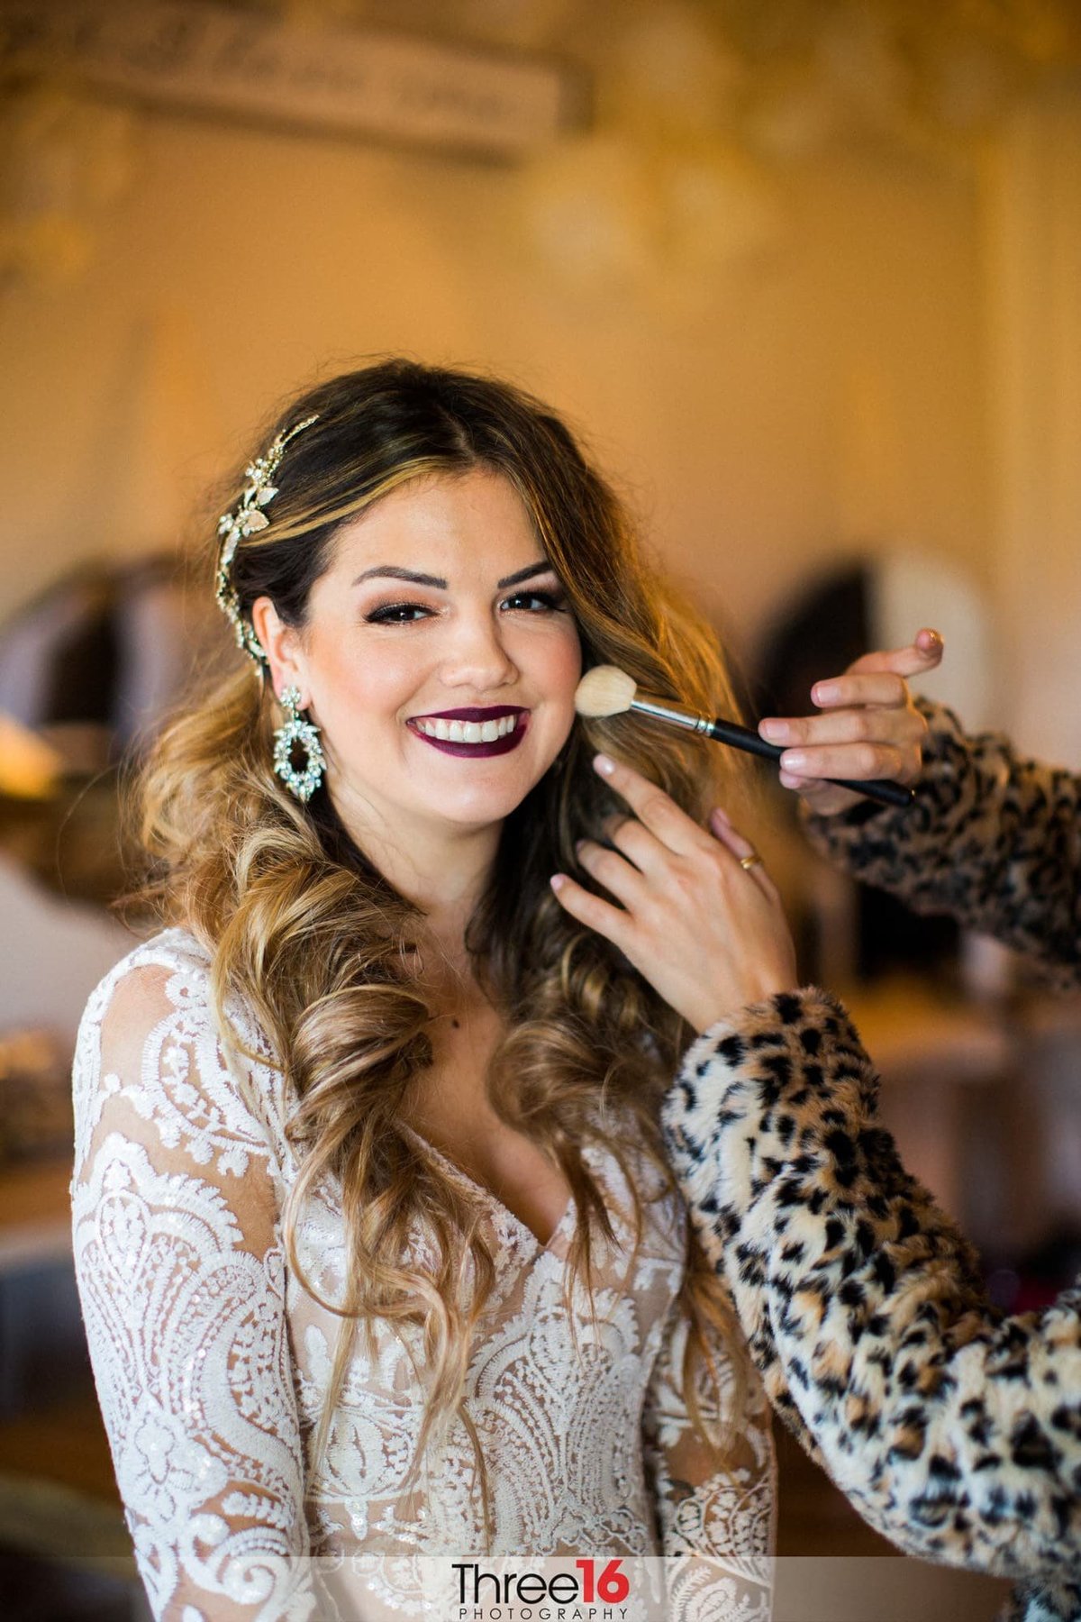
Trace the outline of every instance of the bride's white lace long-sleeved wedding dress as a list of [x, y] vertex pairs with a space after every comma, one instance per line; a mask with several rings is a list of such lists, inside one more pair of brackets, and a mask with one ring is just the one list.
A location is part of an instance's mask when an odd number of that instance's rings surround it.
[[[245, 1046], [269, 1058], [243, 1009], [229, 1012]], [[136, 947], [92, 994], [75, 1101], [83, 1314], [156, 1617], [446, 1616], [425, 1586], [429, 1557], [483, 1567], [592, 1554], [697, 1554], [666, 1562], [673, 1616], [768, 1616], [767, 1410], [752, 1385], [720, 1466], [687, 1418], [676, 1197], [647, 1205], [634, 1255], [626, 1184], [609, 1155], [588, 1152], [617, 1242], [598, 1257], [595, 1311], [585, 1299], [567, 1311], [574, 1208], [540, 1244], [449, 1168], [483, 1205], [498, 1259], [465, 1393], [489, 1478], [486, 1541], [460, 1421], [404, 1486], [423, 1411], [410, 1330], [376, 1332], [374, 1345], [358, 1337], [329, 1447], [311, 1468], [339, 1319], [285, 1262], [280, 1212], [298, 1169], [285, 1083], [269, 1062], [225, 1053], [209, 960], [186, 931]], [[436, 1153], [421, 1139], [417, 1152]], [[423, 1257], [425, 1234], [413, 1244]], [[321, 1293], [339, 1298], [332, 1191], [308, 1202], [298, 1247]], [[716, 1356], [731, 1388], [724, 1346]]]

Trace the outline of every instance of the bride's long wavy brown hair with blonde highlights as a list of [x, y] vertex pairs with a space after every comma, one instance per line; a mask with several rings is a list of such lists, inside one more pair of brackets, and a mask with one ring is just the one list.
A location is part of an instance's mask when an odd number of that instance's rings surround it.
[[[617, 665], [650, 693], [708, 714], [734, 712], [715, 634], [647, 566], [624, 504], [543, 404], [486, 376], [386, 360], [295, 399], [267, 441], [313, 414], [318, 420], [285, 451], [269, 526], [235, 553], [232, 579], [245, 616], [266, 595], [287, 624], [301, 628], [340, 524], [408, 480], [480, 467], [501, 474], [522, 498], [566, 589], [583, 668]], [[415, 1468], [457, 1413], [483, 1481], [462, 1392], [494, 1257], [476, 1207], [404, 1129], [410, 1082], [433, 1054], [413, 954], [418, 908], [352, 842], [326, 787], [308, 806], [282, 787], [272, 769], [274, 725], [269, 683], [238, 655], [237, 668], [160, 735], [139, 783], [151, 861], [141, 895], [212, 954], [227, 1040], [240, 1041], [225, 1017], [229, 999], [240, 996], [288, 1080], [295, 1109], [287, 1132], [301, 1173], [284, 1239], [316, 1299], [297, 1254], [297, 1220], [316, 1186], [331, 1179], [340, 1192], [350, 1270], [344, 1298], [324, 1306], [340, 1314], [344, 1333], [313, 1457], [326, 1445], [357, 1328], [408, 1322], [421, 1327], [426, 1358]], [[613, 1229], [582, 1147], [601, 1142], [616, 1155], [640, 1236], [635, 1158], [645, 1153], [671, 1187], [658, 1105], [690, 1036], [609, 941], [559, 907], [548, 884], [556, 871], [590, 884], [575, 840], [603, 840], [606, 817], [619, 809], [590, 766], [596, 749], [637, 767], [699, 821], [720, 795], [731, 803], [739, 787], [718, 779], [733, 770], [726, 753], [679, 732], [647, 730], [626, 715], [577, 720], [561, 757], [506, 819], [467, 928], [476, 976], [506, 1017], [486, 1080], [491, 1103], [570, 1186], [577, 1229], [569, 1277], [587, 1285], [592, 1244]], [[431, 1272], [407, 1254], [417, 1223], [434, 1239]], [[464, 1278], [472, 1281], [465, 1293]], [[708, 1364], [705, 1327], [733, 1348], [739, 1341], [689, 1225], [684, 1294], [692, 1324], [684, 1387], [710, 1435], [694, 1397], [695, 1366]]]

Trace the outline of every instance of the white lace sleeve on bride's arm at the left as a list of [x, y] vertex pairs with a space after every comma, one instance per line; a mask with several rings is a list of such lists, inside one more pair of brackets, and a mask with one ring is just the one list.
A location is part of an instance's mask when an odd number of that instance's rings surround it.
[[91, 998], [75, 1062], [76, 1277], [117, 1483], [154, 1617], [297, 1622], [314, 1596], [276, 1156], [206, 985], [139, 952]]

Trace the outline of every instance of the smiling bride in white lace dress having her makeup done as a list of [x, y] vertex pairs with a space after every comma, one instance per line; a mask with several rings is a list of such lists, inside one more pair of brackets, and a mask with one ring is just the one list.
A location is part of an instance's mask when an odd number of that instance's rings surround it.
[[399, 360], [285, 410], [216, 584], [237, 668], [141, 780], [162, 928], [75, 1069], [154, 1616], [410, 1616], [429, 1557], [666, 1555], [673, 1616], [765, 1617], [767, 1411], [658, 1127], [694, 1025], [549, 884], [617, 813], [598, 748], [705, 819], [721, 751], [574, 693], [609, 662], [716, 714], [708, 631], [559, 418]]

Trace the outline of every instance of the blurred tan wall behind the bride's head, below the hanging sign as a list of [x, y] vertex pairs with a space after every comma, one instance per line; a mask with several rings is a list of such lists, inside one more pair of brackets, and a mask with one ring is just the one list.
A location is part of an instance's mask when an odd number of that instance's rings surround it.
[[[88, 268], [0, 303], [0, 615], [81, 556], [188, 530], [282, 396], [402, 350], [493, 368], [566, 410], [737, 652], [823, 561], [906, 545], [992, 594], [1018, 659], [1050, 589], [1055, 668], [1068, 654], [1076, 675], [1078, 284], [1057, 272], [1049, 303], [1040, 281], [1042, 251], [1062, 251], [1055, 211], [1076, 264], [1076, 107], [1053, 128], [1040, 110], [1015, 120], [982, 178], [872, 148], [804, 161], [778, 178], [757, 253], [656, 300], [553, 274], [522, 222], [528, 167], [141, 115]], [[1049, 367], [1055, 422], [1029, 454], [1019, 425]], [[1065, 472], [1040, 542], [1018, 503], [1049, 443]], [[1034, 577], [1037, 542], [1065, 561]], [[1047, 710], [1036, 693], [1016, 714]]]

